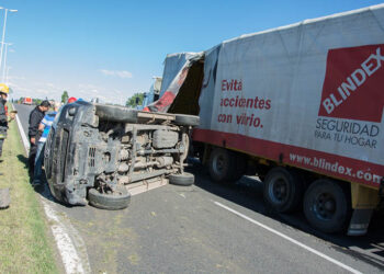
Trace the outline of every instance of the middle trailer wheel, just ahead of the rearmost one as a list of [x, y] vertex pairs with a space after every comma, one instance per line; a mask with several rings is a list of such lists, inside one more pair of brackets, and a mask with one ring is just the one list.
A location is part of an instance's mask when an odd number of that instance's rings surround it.
[[293, 212], [303, 197], [303, 183], [293, 170], [273, 168], [266, 176], [264, 201], [278, 213]]

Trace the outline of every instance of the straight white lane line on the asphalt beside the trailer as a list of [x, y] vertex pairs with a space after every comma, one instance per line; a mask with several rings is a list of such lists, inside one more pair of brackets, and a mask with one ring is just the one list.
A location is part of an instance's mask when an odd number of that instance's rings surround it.
[[263, 228], [263, 229], [266, 229], [266, 230], [268, 230], [268, 231], [270, 231], [270, 232], [272, 232], [272, 233], [274, 233], [274, 235], [276, 235], [276, 236], [280, 236], [281, 238], [284, 238], [285, 240], [287, 240], [287, 241], [290, 241], [290, 242], [292, 242], [292, 243], [294, 243], [294, 244], [296, 244], [296, 246], [298, 246], [298, 247], [301, 247], [301, 248], [303, 248], [303, 249], [305, 249], [305, 250], [307, 250], [307, 251], [309, 251], [309, 252], [312, 252], [312, 253], [314, 253], [314, 254], [316, 254], [316, 255], [318, 255], [318, 256], [320, 256], [320, 258], [323, 258], [331, 263], [339, 265], [340, 267], [342, 267], [351, 273], [361, 274], [360, 271], [357, 271], [357, 270], [354, 270], [354, 269], [352, 269], [352, 267], [350, 267], [350, 266], [348, 266], [348, 265], [346, 265], [346, 264], [343, 264], [343, 263], [341, 263], [341, 262], [339, 262], [339, 261], [337, 261], [337, 260], [335, 260], [335, 259], [332, 259], [332, 258], [330, 258], [330, 256], [328, 256], [328, 255], [326, 255], [326, 254], [324, 254], [324, 253], [321, 253], [313, 248], [309, 248], [308, 246], [305, 246], [304, 243], [296, 241], [295, 239], [292, 239], [291, 237], [283, 235], [282, 232], [279, 232], [278, 230], [270, 228], [270, 227], [268, 227], [268, 226], [266, 226], [266, 225], [263, 225], [263, 224], [261, 224], [261, 222], [259, 222], [259, 221], [257, 221], [257, 220], [255, 220], [255, 219], [252, 219], [252, 218], [250, 218], [250, 217], [248, 217], [248, 216], [246, 216], [246, 215], [244, 215], [244, 214], [241, 214], [241, 213], [239, 213], [239, 212], [237, 212], [237, 210], [235, 210], [226, 205], [223, 205], [218, 202], [214, 202], [214, 204], [233, 213], [233, 214], [235, 214], [235, 215], [237, 215], [237, 216], [239, 216], [239, 217], [241, 217], [241, 218], [244, 218], [244, 219], [246, 219], [246, 220], [248, 220], [248, 221], [250, 221], [250, 222], [252, 222], [252, 224], [255, 224], [255, 225], [257, 225], [257, 226], [259, 226], [259, 227], [261, 227], [261, 228]]

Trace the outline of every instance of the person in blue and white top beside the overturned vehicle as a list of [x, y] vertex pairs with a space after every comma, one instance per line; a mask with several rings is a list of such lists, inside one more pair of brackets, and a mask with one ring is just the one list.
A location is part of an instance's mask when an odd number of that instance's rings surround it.
[[33, 175], [33, 185], [37, 186], [42, 182], [42, 165], [44, 159], [44, 148], [45, 141], [47, 140], [52, 124], [54, 123], [55, 116], [57, 114], [58, 109], [60, 107], [60, 103], [55, 103], [54, 111], [45, 114], [42, 123], [38, 125], [38, 132], [42, 133], [42, 137], [39, 137], [37, 141], [37, 151], [35, 158], [35, 169]]

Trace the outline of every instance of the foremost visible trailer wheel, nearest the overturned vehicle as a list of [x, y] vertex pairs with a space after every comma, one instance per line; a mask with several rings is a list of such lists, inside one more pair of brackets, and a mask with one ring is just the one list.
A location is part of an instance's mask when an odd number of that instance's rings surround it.
[[210, 175], [218, 183], [234, 182], [236, 180], [236, 155], [223, 148], [215, 148], [211, 152]]

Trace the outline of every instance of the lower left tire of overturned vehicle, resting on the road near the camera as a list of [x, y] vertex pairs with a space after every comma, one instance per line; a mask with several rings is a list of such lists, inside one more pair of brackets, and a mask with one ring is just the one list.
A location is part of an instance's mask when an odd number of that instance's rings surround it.
[[111, 194], [100, 193], [95, 189], [88, 192], [89, 204], [101, 209], [118, 210], [126, 208], [131, 201], [131, 194], [123, 186], [117, 186], [117, 190]]

